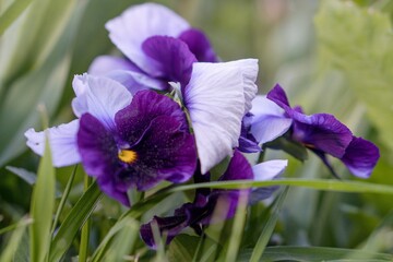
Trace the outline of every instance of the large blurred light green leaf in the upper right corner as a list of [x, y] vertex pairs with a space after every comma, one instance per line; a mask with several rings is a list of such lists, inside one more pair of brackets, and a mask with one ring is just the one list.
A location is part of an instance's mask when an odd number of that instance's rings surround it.
[[315, 25], [320, 63], [341, 70], [393, 152], [393, 33], [389, 15], [349, 1], [325, 0]]

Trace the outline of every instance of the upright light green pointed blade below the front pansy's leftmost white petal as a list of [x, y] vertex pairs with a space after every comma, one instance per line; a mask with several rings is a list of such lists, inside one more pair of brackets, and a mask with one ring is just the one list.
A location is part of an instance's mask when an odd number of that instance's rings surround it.
[[55, 210], [56, 176], [52, 166], [48, 136], [45, 142], [44, 156], [39, 163], [37, 180], [33, 189], [29, 227], [31, 260], [44, 261], [49, 251], [50, 227]]

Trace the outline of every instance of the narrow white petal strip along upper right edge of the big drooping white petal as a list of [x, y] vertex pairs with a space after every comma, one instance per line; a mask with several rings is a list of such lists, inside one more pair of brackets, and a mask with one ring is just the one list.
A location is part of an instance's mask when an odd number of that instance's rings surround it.
[[251, 109], [252, 100], [258, 93], [258, 86], [255, 84], [258, 76], [258, 59], [241, 59], [227, 63], [239, 68], [243, 75], [245, 114], [247, 114]]

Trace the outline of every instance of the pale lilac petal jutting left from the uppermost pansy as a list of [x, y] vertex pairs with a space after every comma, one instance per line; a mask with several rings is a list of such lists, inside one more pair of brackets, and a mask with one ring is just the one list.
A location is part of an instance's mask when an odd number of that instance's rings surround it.
[[127, 58], [99, 56], [93, 60], [92, 64], [88, 67], [87, 73], [91, 75], [104, 76], [108, 74], [108, 72], [114, 70], [142, 72], [135, 64], [133, 64]]

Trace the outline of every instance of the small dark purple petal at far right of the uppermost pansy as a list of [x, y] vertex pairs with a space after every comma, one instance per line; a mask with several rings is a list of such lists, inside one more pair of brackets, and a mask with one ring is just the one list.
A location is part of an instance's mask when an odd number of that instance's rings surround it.
[[187, 44], [199, 62], [218, 62], [217, 56], [203, 32], [190, 28], [182, 32], [179, 39]]

